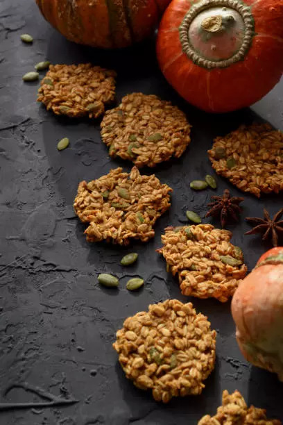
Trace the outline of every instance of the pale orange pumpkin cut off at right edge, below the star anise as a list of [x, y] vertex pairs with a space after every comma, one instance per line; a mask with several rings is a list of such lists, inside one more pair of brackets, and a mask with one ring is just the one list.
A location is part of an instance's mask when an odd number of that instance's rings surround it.
[[232, 316], [243, 356], [283, 381], [283, 247], [264, 253], [241, 281]]

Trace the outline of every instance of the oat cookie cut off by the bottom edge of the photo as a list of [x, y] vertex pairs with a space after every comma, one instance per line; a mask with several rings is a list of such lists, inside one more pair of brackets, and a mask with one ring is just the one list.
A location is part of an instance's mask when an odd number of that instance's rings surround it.
[[246, 405], [239, 391], [222, 394], [222, 406], [218, 407], [215, 416], [205, 415], [198, 425], [281, 425], [277, 419], [267, 419], [266, 410]]

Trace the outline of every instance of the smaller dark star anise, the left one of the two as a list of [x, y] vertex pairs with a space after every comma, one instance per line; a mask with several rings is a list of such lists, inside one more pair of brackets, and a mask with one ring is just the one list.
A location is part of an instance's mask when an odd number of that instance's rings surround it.
[[222, 197], [211, 197], [212, 202], [208, 203], [210, 207], [205, 217], [220, 217], [221, 226], [224, 228], [230, 219], [234, 222], [239, 222], [239, 213], [241, 213], [241, 207], [239, 203], [243, 202], [244, 198], [231, 197], [228, 189], [225, 189]]

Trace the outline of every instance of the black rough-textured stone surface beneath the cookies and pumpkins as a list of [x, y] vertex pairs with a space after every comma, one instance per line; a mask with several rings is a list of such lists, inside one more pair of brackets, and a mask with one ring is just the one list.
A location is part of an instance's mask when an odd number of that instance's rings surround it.
[[[282, 83], [252, 109], [207, 115], [187, 105], [166, 83], [155, 61], [153, 41], [119, 52], [80, 47], [44, 22], [34, 3], [0, 0], [0, 401], [40, 401], [16, 387], [5, 396], [10, 385], [27, 383], [79, 402], [0, 410], [0, 424], [196, 424], [202, 415], [216, 412], [224, 389], [240, 390], [248, 403], [283, 419], [283, 384], [241, 356], [230, 303], [182, 297], [177, 281], [166, 274], [164, 260], [155, 253], [164, 227], [183, 223], [185, 210], [204, 217], [214, 191], [192, 192], [189, 182], [213, 174], [206, 151], [214, 136], [254, 119], [268, 119], [283, 130]], [[22, 43], [22, 33], [33, 35], [33, 45]], [[58, 118], [36, 103], [38, 83], [24, 83], [22, 75], [45, 59], [69, 64], [91, 61], [114, 68], [117, 101], [128, 92], [153, 93], [187, 113], [194, 126], [191, 146], [180, 160], [154, 170], [174, 192], [172, 207], [157, 222], [155, 239], [148, 244], [133, 243], [123, 249], [85, 241], [85, 226], [72, 209], [79, 181], [98, 178], [120, 165], [129, 171], [130, 163], [110, 160], [100, 140], [98, 120]], [[237, 90], [232, 82], [231, 90]], [[70, 139], [70, 147], [59, 152], [56, 145], [63, 137]], [[217, 194], [229, 188], [233, 195], [242, 196], [225, 179], [217, 180]], [[260, 200], [244, 197], [241, 221], [229, 228], [250, 270], [271, 245], [257, 236], [244, 236], [249, 227], [243, 218], [261, 215], [264, 206], [275, 213], [282, 206], [282, 195]], [[139, 253], [137, 264], [121, 267], [119, 260], [131, 251]], [[116, 274], [121, 280], [119, 290], [99, 287], [99, 272]], [[131, 276], [144, 277], [144, 289], [128, 292], [125, 284]], [[125, 378], [112, 342], [126, 317], [167, 298], [193, 301], [209, 317], [218, 337], [216, 368], [203, 394], [163, 406]]]

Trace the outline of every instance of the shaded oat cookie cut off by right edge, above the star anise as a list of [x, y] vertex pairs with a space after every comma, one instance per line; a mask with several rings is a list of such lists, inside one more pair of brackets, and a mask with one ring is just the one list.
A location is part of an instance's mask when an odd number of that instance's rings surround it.
[[283, 133], [269, 124], [240, 126], [214, 140], [208, 151], [217, 174], [260, 197], [283, 190]]

